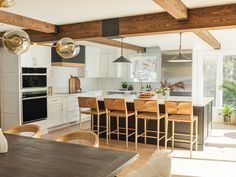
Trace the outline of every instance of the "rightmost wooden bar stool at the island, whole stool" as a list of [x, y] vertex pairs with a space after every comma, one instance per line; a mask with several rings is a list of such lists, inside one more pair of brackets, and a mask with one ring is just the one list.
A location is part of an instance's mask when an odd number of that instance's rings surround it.
[[[175, 142], [185, 142], [190, 143], [190, 158], [192, 158], [192, 149], [195, 143], [195, 149], [197, 151], [198, 143], [198, 117], [193, 115], [193, 106], [191, 101], [166, 101], [165, 102], [165, 148], [167, 147], [167, 142], [172, 141], [172, 149], [174, 148]], [[168, 138], [168, 122], [172, 122], [172, 135]], [[190, 124], [189, 134], [175, 133], [175, 122], [184, 122]], [[195, 123], [195, 135], [194, 133], [194, 123]], [[185, 139], [175, 139], [175, 135], [188, 137], [189, 140]]]

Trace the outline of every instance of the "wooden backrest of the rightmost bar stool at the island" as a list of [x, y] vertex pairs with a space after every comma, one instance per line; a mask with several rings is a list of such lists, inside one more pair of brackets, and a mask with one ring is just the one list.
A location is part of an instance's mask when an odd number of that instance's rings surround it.
[[165, 101], [166, 114], [193, 115], [191, 101]]

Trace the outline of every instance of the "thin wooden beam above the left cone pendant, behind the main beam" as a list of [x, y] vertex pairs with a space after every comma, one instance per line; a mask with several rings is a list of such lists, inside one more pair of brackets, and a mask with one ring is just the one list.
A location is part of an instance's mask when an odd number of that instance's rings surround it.
[[[121, 47], [120, 41], [115, 41], [115, 40], [104, 38], [104, 37], [91, 38], [91, 39], [87, 39], [86, 41], [97, 43], [97, 44], [102, 44], [102, 45], [109, 45], [109, 46], [113, 46], [113, 47]], [[137, 52], [145, 52], [144, 47], [128, 44], [126, 42], [123, 42], [123, 48], [129, 49], [129, 50], [135, 50]]]

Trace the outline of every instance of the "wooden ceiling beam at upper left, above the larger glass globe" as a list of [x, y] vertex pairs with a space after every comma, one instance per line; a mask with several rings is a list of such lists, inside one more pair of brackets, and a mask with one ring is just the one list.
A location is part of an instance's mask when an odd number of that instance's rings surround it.
[[0, 10], [0, 23], [19, 26], [25, 29], [31, 29], [44, 33], [56, 33], [57, 27], [53, 24], [40, 20], [24, 17]]

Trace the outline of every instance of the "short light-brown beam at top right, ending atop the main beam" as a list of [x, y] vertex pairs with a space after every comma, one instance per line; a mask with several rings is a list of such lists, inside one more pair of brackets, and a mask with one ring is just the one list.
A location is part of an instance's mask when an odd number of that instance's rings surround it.
[[188, 9], [181, 0], [153, 0], [172, 17], [178, 20], [188, 18]]

